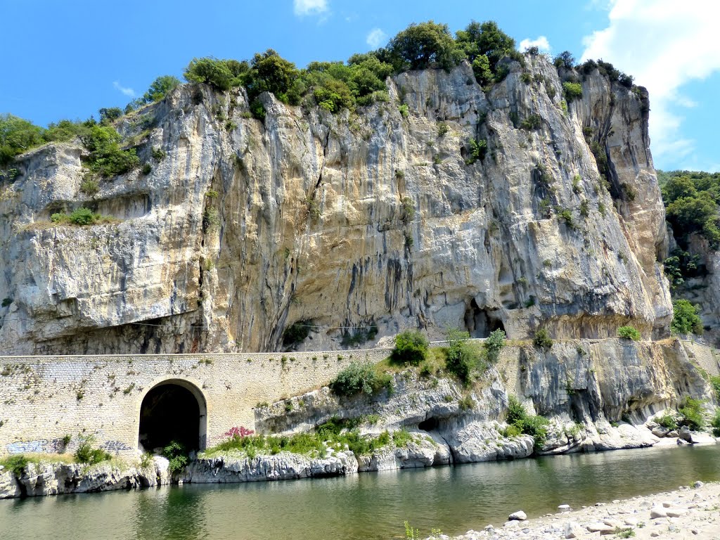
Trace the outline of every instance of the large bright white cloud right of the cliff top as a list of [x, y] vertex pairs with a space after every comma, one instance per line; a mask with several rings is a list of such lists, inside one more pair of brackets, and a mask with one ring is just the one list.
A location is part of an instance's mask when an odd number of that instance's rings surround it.
[[720, 70], [717, 0], [611, 0], [609, 25], [583, 39], [581, 60], [602, 58], [635, 77], [650, 94], [650, 137], [658, 158], [678, 161], [695, 148], [680, 137], [678, 107], [693, 107], [683, 84]]

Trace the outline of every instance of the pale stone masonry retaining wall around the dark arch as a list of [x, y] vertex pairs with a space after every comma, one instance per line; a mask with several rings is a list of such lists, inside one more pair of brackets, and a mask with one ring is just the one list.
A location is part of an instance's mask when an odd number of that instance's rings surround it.
[[[140, 405], [161, 382], [181, 381], [207, 407], [207, 445], [233, 426], [254, 429], [253, 408], [327, 384], [352, 359], [389, 349], [333, 353], [0, 357], [0, 456], [62, 449], [94, 433], [107, 451], [138, 449]], [[201, 406], [202, 410], [202, 406]]]

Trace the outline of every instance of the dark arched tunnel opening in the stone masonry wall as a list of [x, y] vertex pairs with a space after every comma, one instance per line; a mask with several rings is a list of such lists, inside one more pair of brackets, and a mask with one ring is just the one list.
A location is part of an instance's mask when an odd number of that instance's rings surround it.
[[140, 405], [138, 448], [161, 451], [172, 441], [187, 451], [204, 450], [207, 409], [202, 392], [185, 381], [161, 382]]

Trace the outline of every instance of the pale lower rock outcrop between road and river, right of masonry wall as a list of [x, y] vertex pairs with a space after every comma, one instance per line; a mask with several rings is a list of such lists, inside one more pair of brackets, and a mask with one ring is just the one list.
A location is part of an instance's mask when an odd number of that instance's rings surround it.
[[[505, 436], [510, 395], [523, 401], [528, 414], [549, 419], [548, 436], [538, 448], [531, 436]], [[446, 448], [449, 462], [483, 462], [652, 446], [660, 441], [652, 431], [657, 428], [653, 418], [677, 407], [686, 395], [708, 403], [714, 399], [677, 340], [567, 341], [547, 351], [528, 343], [503, 349], [498, 365], [472, 387], [408, 371], [395, 376], [390, 394], [338, 397], [324, 387], [258, 408], [256, 428], [292, 433], [335, 416], [373, 418], [372, 424], [363, 424], [364, 432], [405, 428], [426, 433]], [[380, 452], [367, 461], [382, 468], [405, 467], [393, 467], [396, 456], [397, 451]], [[425, 466], [442, 462], [429, 452], [420, 460]]]

